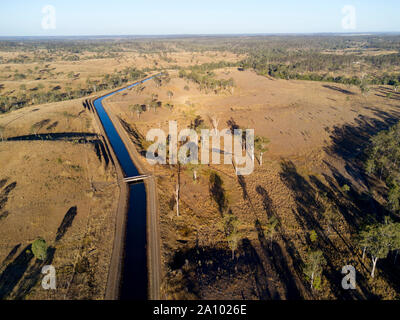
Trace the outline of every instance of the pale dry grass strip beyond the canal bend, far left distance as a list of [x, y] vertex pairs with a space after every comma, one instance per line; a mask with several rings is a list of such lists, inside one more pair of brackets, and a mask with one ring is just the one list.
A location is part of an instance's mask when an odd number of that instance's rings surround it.
[[[0, 52], [4, 59], [15, 56], [14, 53]], [[27, 54], [27, 57], [30, 55]], [[209, 62], [236, 62], [244, 55], [230, 52], [173, 52], [146, 53], [124, 52], [116, 57], [96, 58], [93, 53], [83, 52], [78, 55], [78, 61], [55, 60], [51, 62], [7, 63], [0, 65], [1, 92], [4, 95], [14, 95], [25, 85], [26, 92], [37, 91], [43, 86], [45, 91], [67, 92], [70, 88], [85, 88], [87, 80], [101, 81], [104, 75], [119, 72], [127, 67], [138, 69], [165, 69], [172, 66], [187, 67], [189, 65]], [[23, 74], [24, 79], [15, 78], [15, 74]], [[39, 89], [40, 90], [40, 89]]]

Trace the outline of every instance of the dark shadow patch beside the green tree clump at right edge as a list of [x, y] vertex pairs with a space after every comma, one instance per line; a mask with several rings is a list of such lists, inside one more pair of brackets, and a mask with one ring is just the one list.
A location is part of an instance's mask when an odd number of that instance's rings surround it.
[[[374, 186], [375, 189], [376, 179], [365, 174], [364, 163], [367, 158], [366, 150], [370, 145], [371, 137], [396, 124], [400, 119], [400, 112], [386, 112], [373, 107], [365, 108], [373, 111], [377, 118], [359, 116], [355, 125], [347, 124], [341, 127], [334, 127], [331, 134], [332, 145], [325, 148], [329, 155], [344, 160], [346, 173], [366, 190], [363, 191], [353, 186], [352, 182], [345, 178], [334, 166], [325, 162], [331, 170], [334, 180], [327, 175], [325, 175], [325, 179], [333, 189], [336, 189], [336, 194], [339, 193], [337, 185], [339, 185], [339, 188], [344, 184], [351, 186], [351, 191], [348, 193], [347, 198], [352, 203], [350, 207], [353, 217], [345, 214], [345, 208], [342, 207], [341, 211], [352, 227], [358, 227], [370, 219], [382, 221], [383, 217], [388, 215], [395, 218], [368, 192], [368, 190], [371, 190], [371, 186]], [[385, 190], [378, 189], [378, 192], [384, 196]]]

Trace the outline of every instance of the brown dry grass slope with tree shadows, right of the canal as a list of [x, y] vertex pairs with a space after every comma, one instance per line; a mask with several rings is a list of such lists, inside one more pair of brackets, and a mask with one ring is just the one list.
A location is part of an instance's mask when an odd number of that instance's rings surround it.
[[[375, 86], [363, 95], [356, 86], [274, 80], [236, 68], [214, 72], [219, 79], [234, 79], [233, 94], [200, 91], [171, 73], [160, 88], [147, 82], [106, 103], [136, 132], [132, 140], [139, 151], [148, 145], [144, 137], [151, 128], [168, 133], [169, 120], [177, 120], [183, 129], [196, 118], [202, 128], [213, 128], [212, 119], [218, 119], [220, 130], [234, 124], [254, 128], [256, 135], [270, 140], [263, 165], [257, 155], [249, 176], [236, 176], [230, 165], [181, 166], [180, 171], [148, 165], [158, 177], [165, 297], [396, 298], [396, 285], [383, 273], [370, 279], [369, 262], [361, 260], [354, 242], [354, 220], [371, 209], [362, 165], [352, 163], [368, 136], [398, 119], [397, 100], [382, 94], [391, 88]], [[147, 107], [140, 118], [129, 108], [151, 105], [156, 94], [161, 108]], [[213, 173], [222, 180], [217, 189], [211, 183]], [[178, 174], [179, 217], [174, 200]], [[349, 193], [344, 185], [350, 186]], [[222, 195], [224, 208], [219, 206]], [[333, 218], [326, 215], [330, 206], [338, 208]], [[229, 211], [239, 221], [234, 260], [224, 231]], [[274, 220], [278, 223], [271, 229]], [[303, 274], [312, 247], [321, 248], [329, 262], [317, 290], [309, 289]], [[360, 272], [359, 289], [351, 294], [338, 289], [341, 268], [348, 263]]]

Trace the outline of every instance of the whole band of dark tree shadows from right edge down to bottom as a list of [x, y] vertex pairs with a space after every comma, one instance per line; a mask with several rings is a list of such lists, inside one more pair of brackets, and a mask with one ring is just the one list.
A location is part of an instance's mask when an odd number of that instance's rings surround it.
[[[338, 229], [333, 227], [333, 231], [343, 240], [346, 248], [337, 249], [329, 241], [329, 235], [326, 234], [323, 226], [319, 222], [324, 221], [320, 215], [325, 208], [319, 201], [319, 195], [324, 194], [330, 202], [334, 203], [340, 216], [347, 223], [349, 232], [352, 234], [358, 232], [361, 225], [371, 222], [371, 220], [383, 221], [383, 217], [390, 213], [380, 205], [368, 192], [370, 186], [374, 184], [372, 178], [365, 175], [364, 161], [366, 159], [365, 149], [369, 145], [370, 138], [381, 130], [386, 130], [394, 125], [400, 118], [399, 112], [385, 112], [373, 109], [377, 118], [359, 116], [355, 125], [346, 124], [341, 127], [334, 127], [332, 130], [332, 145], [325, 148], [328, 155], [342, 159], [345, 163], [345, 170], [348, 177], [345, 177], [334, 165], [325, 161], [331, 174], [323, 174], [327, 184], [322, 182], [317, 176], [310, 176], [308, 182], [301, 177], [290, 162], [282, 162], [281, 179], [291, 189], [295, 195], [297, 204], [296, 210], [293, 210], [300, 226], [304, 230], [314, 229], [318, 233], [318, 244], [314, 244], [322, 250], [327, 260], [327, 266], [324, 268], [324, 275], [329, 281], [332, 292], [340, 299], [376, 299], [371, 294], [371, 288], [363, 274], [359, 274], [357, 285], [360, 288], [358, 292], [344, 291], [341, 288], [343, 275], [338, 270], [338, 257], [344, 257], [346, 252], [353, 259], [358, 260], [358, 265], [365, 269], [360, 260], [357, 248], [342, 237]], [[354, 182], [354, 183], [353, 183]], [[343, 191], [344, 185], [350, 186], [350, 191]], [[318, 213], [319, 212], [319, 213]], [[324, 223], [325, 225], [326, 223]], [[322, 240], [322, 241], [321, 241]], [[312, 243], [307, 243], [313, 246]], [[334, 261], [337, 261], [334, 263]], [[344, 262], [343, 262], [344, 263]], [[382, 270], [385, 268], [385, 262], [382, 263]], [[395, 290], [399, 290], [399, 279], [396, 276], [398, 270], [385, 272], [388, 282], [393, 284]]]

